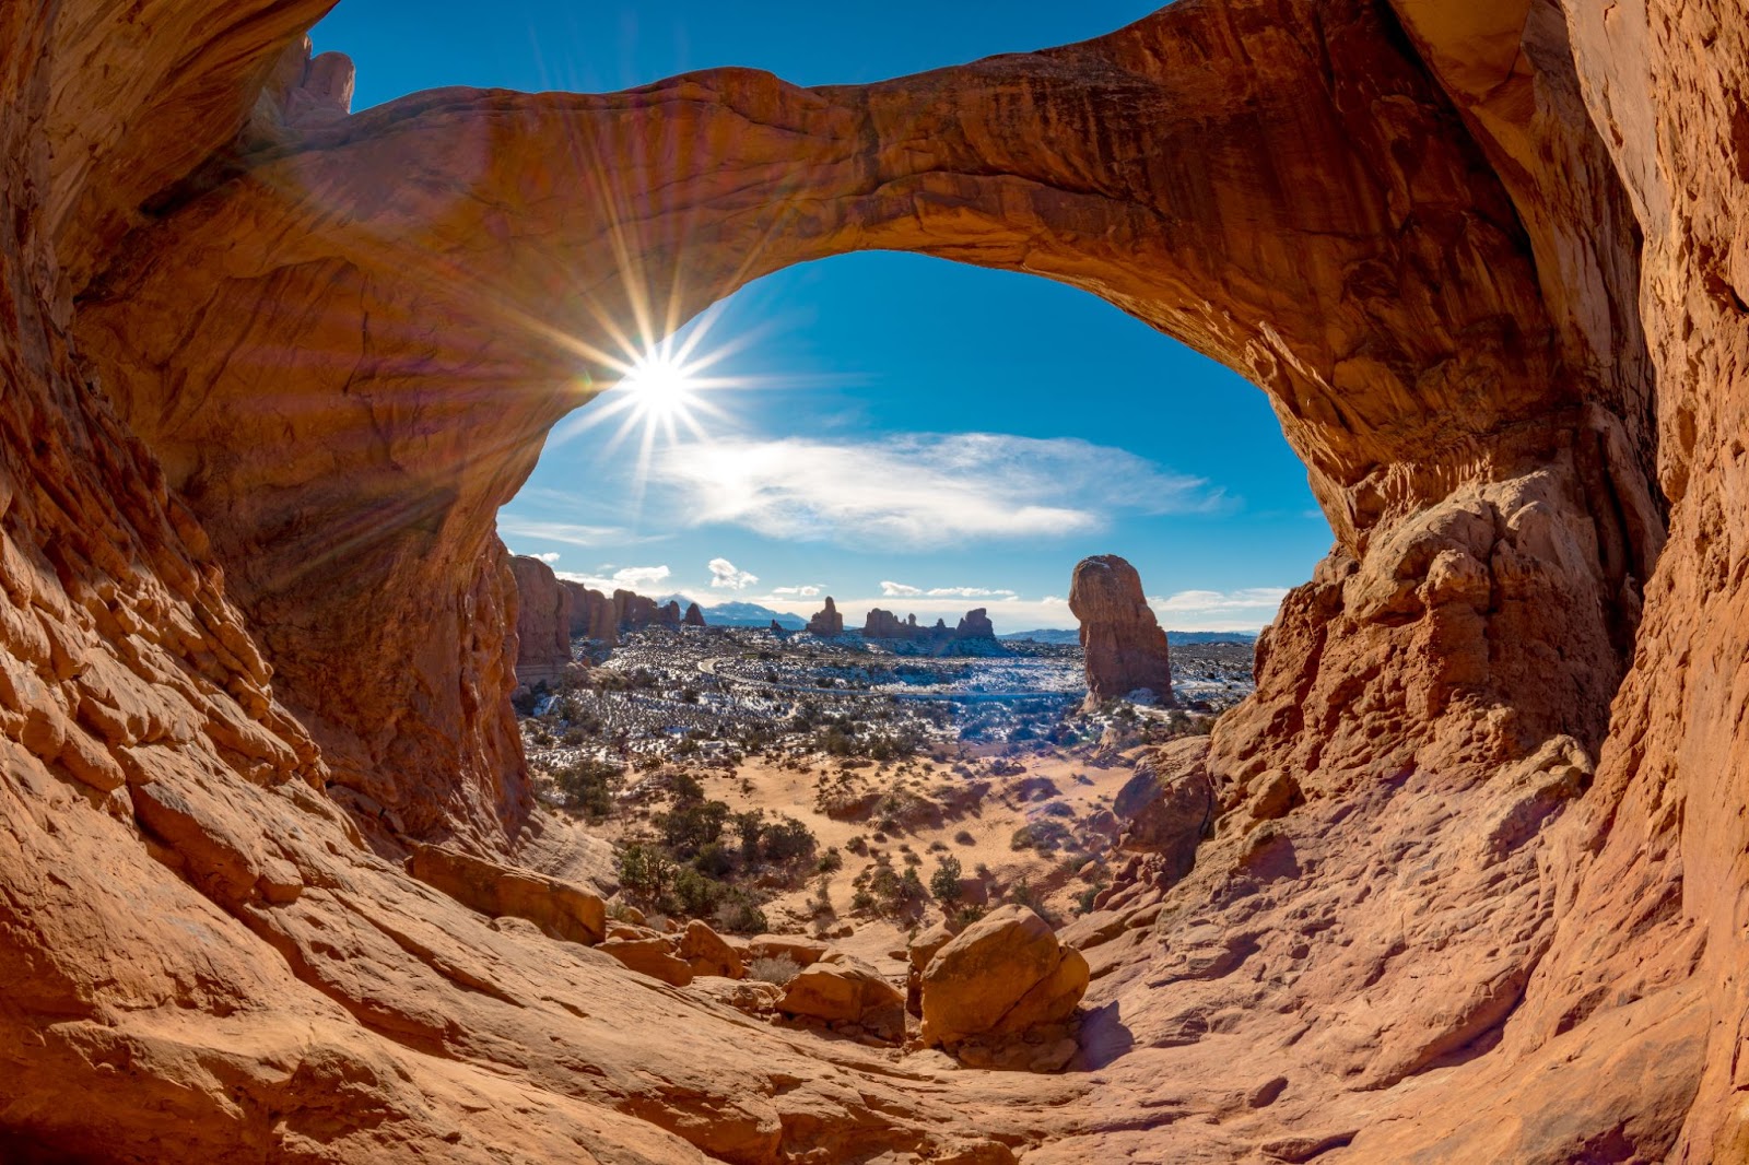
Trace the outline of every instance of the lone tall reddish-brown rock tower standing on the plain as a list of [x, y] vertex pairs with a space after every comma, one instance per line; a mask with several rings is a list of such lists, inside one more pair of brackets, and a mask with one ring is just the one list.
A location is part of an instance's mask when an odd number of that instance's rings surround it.
[[1069, 610], [1081, 619], [1086, 652], [1088, 707], [1147, 689], [1172, 700], [1167, 633], [1142, 595], [1142, 577], [1116, 555], [1076, 563]]

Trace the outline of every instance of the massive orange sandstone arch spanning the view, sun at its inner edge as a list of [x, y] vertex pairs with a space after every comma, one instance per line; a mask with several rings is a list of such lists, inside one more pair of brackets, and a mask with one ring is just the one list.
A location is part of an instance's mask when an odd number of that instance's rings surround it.
[[[491, 514], [579, 380], [638, 329], [855, 248], [1056, 278], [1251, 376], [1375, 624], [1322, 686], [1387, 642], [1418, 656], [1382, 684], [1422, 689], [1380, 696], [1404, 722], [1466, 701], [1515, 717], [1457, 733], [1485, 759], [1551, 731], [1595, 745], [1662, 539], [1642, 418], [1562, 352], [1508, 189], [1394, 37], [1361, 0], [1179, 3], [859, 89], [721, 70], [355, 117], [320, 105], [332, 68], [292, 58], [324, 91], [273, 94], [290, 124], [257, 115], [231, 166], [170, 194], [77, 290], [77, 327], [255, 610], [282, 698], [399, 829], [490, 836], [526, 808]], [[1515, 513], [1536, 528], [1497, 541]], [[1320, 691], [1303, 651], [1272, 661], [1259, 707]], [[1296, 749], [1315, 766], [1322, 745]]]

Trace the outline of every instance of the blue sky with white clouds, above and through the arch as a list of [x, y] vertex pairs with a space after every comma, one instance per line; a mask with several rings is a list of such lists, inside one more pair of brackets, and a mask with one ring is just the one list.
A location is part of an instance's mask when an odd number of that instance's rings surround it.
[[[355, 108], [448, 84], [605, 91], [747, 65], [859, 82], [1093, 37], [1151, 0], [862, 5], [345, 0], [313, 37]], [[701, 322], [703, 324], [703, 322]], [[698, 324], [694, 324], [698, 327]], [[547, 441], [500, 514], [518, 553], [602, 586], [852, 624], [988, 607], [1074, 626], [1074, 563], [1118, 553], [1167, 626], [1256, 628], [1331, 534], [1263, 394], [1116, 308], [1034, 276], [861, 254], [780, 271], [708, 320], [703, 437], [617, 439], [628, 390]], [[596, 416], [600, 413], [600, 416]]]

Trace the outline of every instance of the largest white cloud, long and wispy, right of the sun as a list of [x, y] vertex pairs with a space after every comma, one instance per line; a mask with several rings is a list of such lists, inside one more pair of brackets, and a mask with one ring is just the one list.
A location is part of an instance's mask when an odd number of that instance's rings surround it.
[[1221, 502], [1203, 481], [1123, 450], [1004, 434], [693, 443], [663, 453], [652, 481], [693, 525], [888, 549], [1088, 534], [1119, 511]]

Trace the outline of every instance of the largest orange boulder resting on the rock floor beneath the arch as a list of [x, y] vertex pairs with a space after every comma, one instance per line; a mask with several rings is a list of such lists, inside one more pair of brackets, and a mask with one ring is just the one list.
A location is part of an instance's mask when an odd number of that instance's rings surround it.
[[1002, 906], [936, 952], [923, 969], [923, 1043], [1020, 1036], [1074, 1015], [1088, 960], [1025, 906]]

